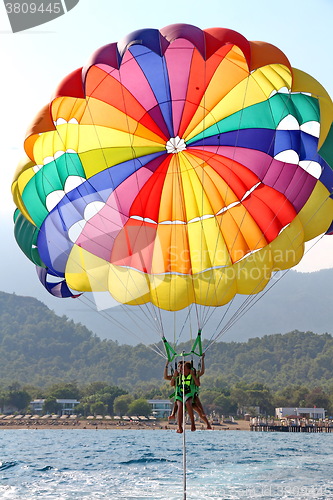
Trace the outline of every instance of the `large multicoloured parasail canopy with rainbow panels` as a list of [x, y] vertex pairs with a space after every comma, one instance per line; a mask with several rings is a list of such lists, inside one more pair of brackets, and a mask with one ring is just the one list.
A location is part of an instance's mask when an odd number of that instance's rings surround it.
[[178, 310], [257, 293], [331, 231], [332, 118], [323, 87], [270, 44], [136, 31], [36, 116], [12, 188], [17, 241], [58, 296]]

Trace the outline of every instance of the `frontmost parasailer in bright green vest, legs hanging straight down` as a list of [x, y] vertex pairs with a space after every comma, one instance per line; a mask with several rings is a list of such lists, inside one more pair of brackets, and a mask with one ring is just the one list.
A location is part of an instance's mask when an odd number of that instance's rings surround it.
[[177, 368], [179, 371], [175, 370], [170, 381], [171, 386], [175, 387], [174, 398], [178, 406], [177, 432], [183, 432], [183, 400], [185, 401], [186, 410], [191, 419], [191, 431], [195, 431], [193, 400], [197, 394], [198, 387], [200, 386], [200, 380], [196, 376], [190, 362], [179, 363]]

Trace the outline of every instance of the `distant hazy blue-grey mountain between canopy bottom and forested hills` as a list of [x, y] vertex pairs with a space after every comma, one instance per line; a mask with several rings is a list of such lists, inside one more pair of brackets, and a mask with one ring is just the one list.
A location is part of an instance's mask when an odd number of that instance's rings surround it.
[[[57, 314], [66, 315], [75, 322], [82, 323], [100, 338], [131, 345], [160, 340], [161, 334], [156, 333], [156, 330], [161, 332], [161, 328], [158, 327], [160, 320], [158, 310], [151, 312], [146, 306], [107, 308], [107, 303], [103, 304], [98, 294], [95, 296], [85, 294], [78, 299], [57, 299], [43, 289], [33, 269], [31, 271], [31, 276], [29, 275], [25, 280], [24, 294], [37, 296]], [[19, 279], [16, 279], [15, 283], [17, 285], [15, 289], [22, 289], [23, 284]], [[208, 337], [216, 335], [221, 327], [233, 318], [234, 314], [237, 322], [220, 337], [226, 342], [242, 342], [253, 337], [286, 333], [296, 329], [315, 333], [333, 333], [331, 314], [333, 269], [313, 273], [299, 273], [291, 270], [278, 274], [273, 277], [259, 300], [258, 296], [253, 296], [250, 303], [245, 302], [248, 304], [246, 312], [237, 313], [237, 309], [242, 303], [244, 304], [244, 301], [248, 301], [246, 296], [238, 296], [230, 307], [215, 309], [212, 319], [204, 328], [206, 335]], [[162, 313], [166, 336], [174, 337], [176, 320], [178, 332], [183, 332], [181, 340], [187, 340], [189, 330], [196, 329], [194, 307], [192, 313], [194, 319], [191, 326], [189, 322], [184, 325], [187, 311], [180, 311], [176, 316], [172, 313]], [[219, 326], [221, 320], [221, 326]]]

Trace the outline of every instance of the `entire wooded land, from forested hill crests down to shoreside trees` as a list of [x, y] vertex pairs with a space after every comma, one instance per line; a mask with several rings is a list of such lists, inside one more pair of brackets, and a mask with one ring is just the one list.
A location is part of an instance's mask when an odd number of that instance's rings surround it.
[[[190, 343], [181, 344], [178, 351], [188, 352], [190, 347]], [[82, 414], [95, 413], [97, 403], [114, 414], [118, 397], [129, 404], [141, 398], [168, 397], [170, 388], [162, 380], [164, 363], [143, 344], [102, 340], [36, 299], [0, 292], [1, 401], [19, 400], [22, 404], [16, 406], [25, 408], [24, 401], [36, 394], [54, 398], [57, 384], [74, 384], [85, 405]], [[97, 390], [93, 384], [104, 389]], [[88, 387], [96, 390], [87, 393]], [[294, 330], [214, 344], [206, 353], [201, 399], [208, 412], [221, 414], [257, 406], [272, 414], [277, 406], [314, 404], [333, 414], [332, 388], [332, 335]]]

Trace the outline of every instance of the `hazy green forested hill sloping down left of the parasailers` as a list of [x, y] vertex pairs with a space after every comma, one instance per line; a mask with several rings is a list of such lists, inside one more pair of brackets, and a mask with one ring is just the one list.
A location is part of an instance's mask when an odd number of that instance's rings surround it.
[[132, 369], [142, 378], [146, 366], [150, 376], [159, 377], [163, 360], [142, 344], [102, 340], [35, 298], [0, 292], [0, 380], [40, 386], [57, 380], [118, 381]]

